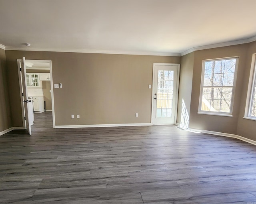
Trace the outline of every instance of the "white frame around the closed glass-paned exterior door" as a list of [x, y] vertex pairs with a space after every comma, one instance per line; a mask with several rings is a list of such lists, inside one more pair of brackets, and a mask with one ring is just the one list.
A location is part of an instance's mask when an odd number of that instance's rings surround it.
[[[174, 125], [177, 123], [177, 113], [178, 113], [178, 96], [179, 96], [179, 82], [180, 82], [180, 64], [174, 63], [153, 63], [153, 78], [152, 78], [152, 97], [151, 97], [151, 125], [162, 125], [162, 124], [153, 124], [153, 111], [154, 111], [154, 85], [156, 82], [155, 71], [156, 65], [172, 65], [178, 66], [177, 70], [177, 84], [176, 84], [176, 100], [175, 100], [175, 110], [174, 110]], [[165, 124], [166, 125], [166, 124]]]

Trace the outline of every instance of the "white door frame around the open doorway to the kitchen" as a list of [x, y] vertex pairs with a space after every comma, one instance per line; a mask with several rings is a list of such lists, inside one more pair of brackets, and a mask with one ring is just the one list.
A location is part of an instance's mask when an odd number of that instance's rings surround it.
[[[18, 73], [20, 73], [19, 63], [22, 61], [21, 59], [17, 59], [17, 67], [18, 67]], [[55, 128], [55, 112], [54, 112], [54, 89], [53, 89], [53, 78], [52, 78], [52, 61], [51, 60], [37, 60], [37, 59], [26, 59], [26, 62], [32, 62], [36, 61], [38, 63], [49, 63], [50, 64], [50, 84], [51, 84], [51, 96], [52, 96], [52, 123], [53, 128]], [[23, 98], [22, 98], [22, 86], [21, 86], [21, 77], [19, 74], [19, 85], [20, 85], [20, 102], [21, 102], [21, 109], [22, 109], [22, 122], [23, 122], [23, 128], [25, 129], [25, 120], [24, 120], [24, 105], [23, 105]], [[27, 84], [26, 84], [27, 86]]]

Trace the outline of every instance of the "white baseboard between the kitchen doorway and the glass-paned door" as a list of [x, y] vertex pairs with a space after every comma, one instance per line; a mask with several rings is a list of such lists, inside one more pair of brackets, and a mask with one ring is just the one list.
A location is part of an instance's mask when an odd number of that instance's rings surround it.
[[106, 128], [106, 127], [125, 127], [125, 126], [151, 126], [151, 123], [70, 125], [70, 126], [55, 126], [55, 128]]

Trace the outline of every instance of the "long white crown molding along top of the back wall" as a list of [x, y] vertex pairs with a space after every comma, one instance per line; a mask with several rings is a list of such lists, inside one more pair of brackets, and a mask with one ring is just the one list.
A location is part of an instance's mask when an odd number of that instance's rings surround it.
[[175, 57], [180, 57], [180, 53], [154, 53], [154, 52], [90, 50], [90, 49], [46, 49], [46, 48], [7, 47], [6, 46], [5, 50], [43, 51], [43, 52], [67, 52], [67, 53], [96, 53], [96, 54], [116, 54], [116, 55], [153, 55], [153, 56], [175, 56]]

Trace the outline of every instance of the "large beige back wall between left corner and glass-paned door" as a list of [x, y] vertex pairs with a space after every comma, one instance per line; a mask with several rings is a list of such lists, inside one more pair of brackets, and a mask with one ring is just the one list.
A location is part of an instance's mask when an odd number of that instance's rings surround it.
[[180, 63], [180, 57], [6, 51], [13, 126], [22, 126], [16, 60], [23, 56], [52, 60], [53, 83], [63, 86], [53, 90], [56, 125], [150, 123], [153, 63]]

